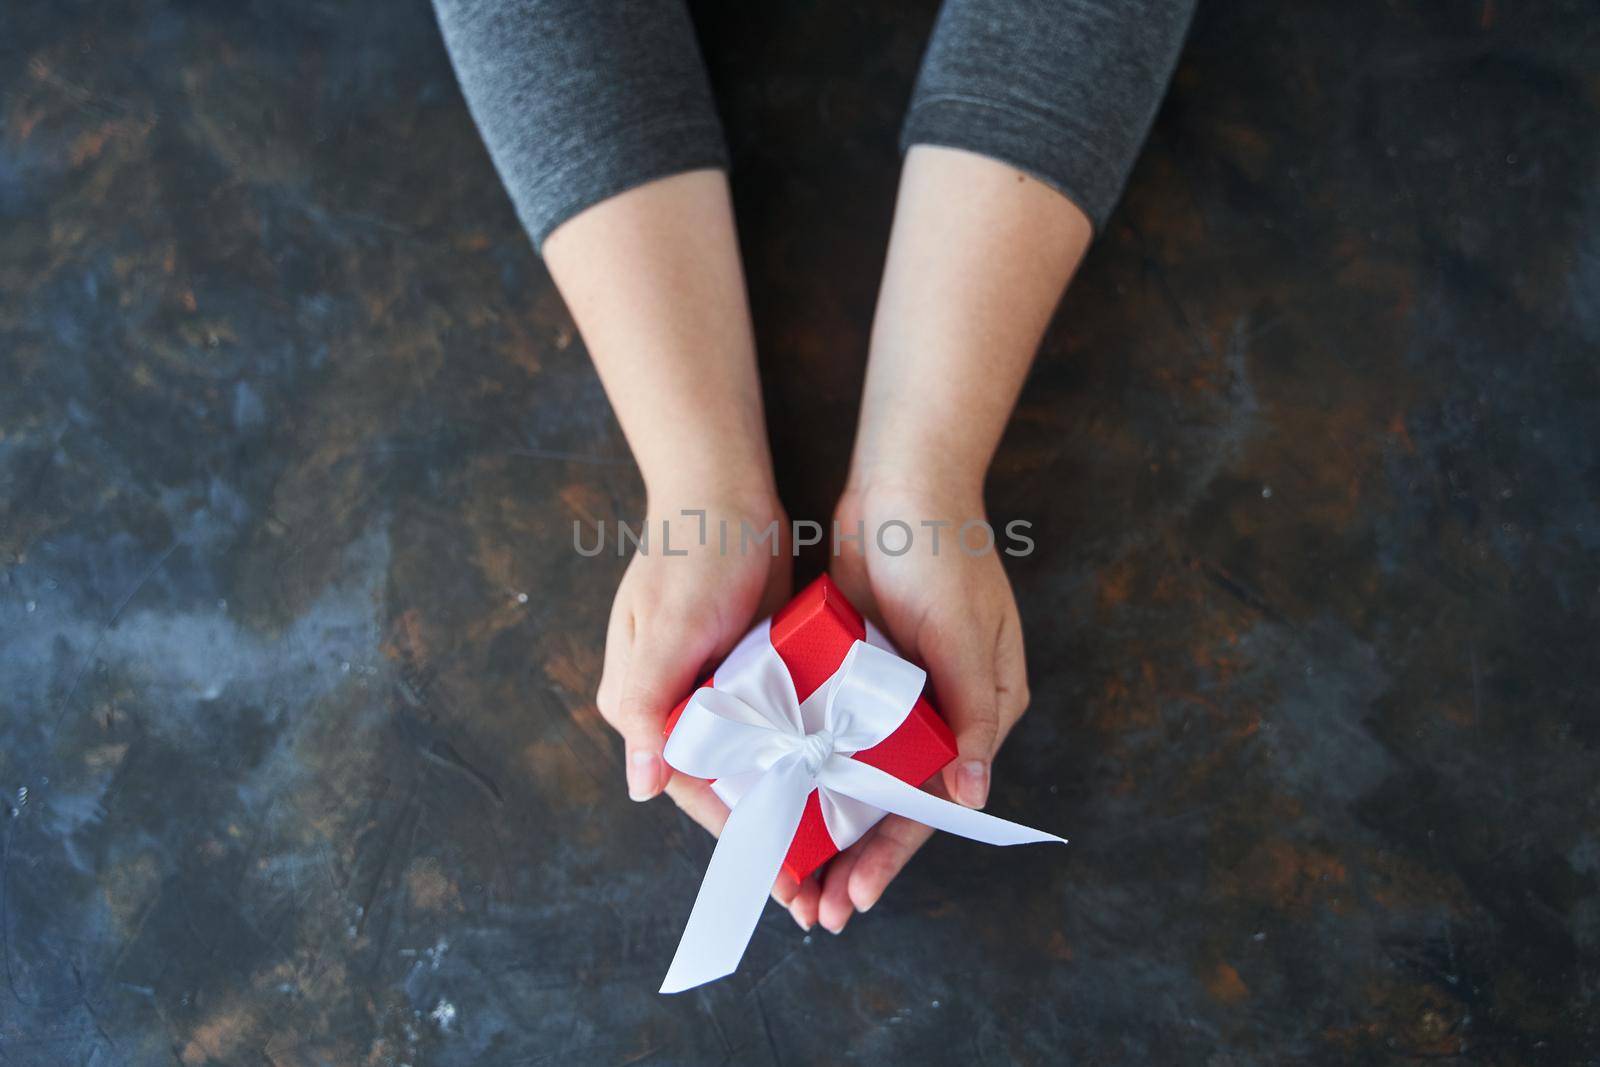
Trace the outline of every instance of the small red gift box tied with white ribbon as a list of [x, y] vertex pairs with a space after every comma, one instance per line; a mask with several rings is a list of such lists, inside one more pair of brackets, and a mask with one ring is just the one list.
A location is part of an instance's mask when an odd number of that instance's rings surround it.
[[[779, 659], [789, 667], [789, 677], [794, 678], [795, 697], [805, 702], [838, 670], [850, 646], [867, 640], [867, 625], [861, 613], [845, 600], [834, 579], [824, 574], [773, 616], [771, 640]], [[715, 678], [707, 678], [706, 685], [714, 686]], [[667, 734], [672, 733], [688, 702], [690, 699], [683, 697], [683, 702], [672, 709], [672, 715], [667, 717]], [[902, 782], [922, 785], [955, 758], [955, 736], [933, 710], [928, 696], [922, 694], [899, 729], [851, 758], [888, 771]], [[813, 789], [805, 801], [800, 829], [795, 830], [789, 854], [784, 856], [784, 870], [798, 881], [837, 853], [838, 848], [822, 822], [822, 805]]]

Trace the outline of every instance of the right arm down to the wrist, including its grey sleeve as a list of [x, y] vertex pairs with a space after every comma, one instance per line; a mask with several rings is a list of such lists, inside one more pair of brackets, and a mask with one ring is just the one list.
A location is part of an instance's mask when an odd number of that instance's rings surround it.
[[946, 0], [902, 134], [854, 488], [981, 499], [1034, 352], [1122, 192], [1192, 10]]

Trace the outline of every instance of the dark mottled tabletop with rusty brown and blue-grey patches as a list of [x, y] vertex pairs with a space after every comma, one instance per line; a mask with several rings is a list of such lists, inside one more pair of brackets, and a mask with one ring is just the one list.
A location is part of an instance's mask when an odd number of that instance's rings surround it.
[[[888, 6], [698, 10], [797, 517]], [[0, 1064], [1595, 1062], [1597, 22], [1202, 3], [992, 480], [994, 806], [1074, 846], [662, 998], [709, 840], [624, 798], [570, 549], [640, 486], [429, 8], [10, 0]]]

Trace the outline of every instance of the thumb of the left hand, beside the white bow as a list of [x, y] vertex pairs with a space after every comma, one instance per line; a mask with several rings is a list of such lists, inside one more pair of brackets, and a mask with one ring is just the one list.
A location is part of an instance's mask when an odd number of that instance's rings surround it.
[[635, 629], [613, 723], [622, 734], [632, 800], [650, 800], [666, 787], [672, 771], [661, 758], [666, 744], [661, 728], [672, 705], [694, 685], [694, 672], [709, 651], [707, 635], [688, 621], [670, 617]]

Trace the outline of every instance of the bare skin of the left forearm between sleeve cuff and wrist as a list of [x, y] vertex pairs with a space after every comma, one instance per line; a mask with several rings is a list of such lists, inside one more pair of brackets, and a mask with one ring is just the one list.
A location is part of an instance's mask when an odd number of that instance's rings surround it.
[[726, 176], [611, 197], [557, 227], [544, 256], [651, 499], [773, 496]]

